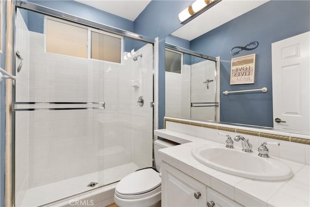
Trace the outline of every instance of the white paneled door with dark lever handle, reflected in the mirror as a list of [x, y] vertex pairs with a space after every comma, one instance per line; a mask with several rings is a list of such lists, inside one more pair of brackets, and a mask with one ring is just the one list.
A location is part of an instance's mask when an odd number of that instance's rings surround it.
[[275, 128], [310, 131], [309, 48], [310, 32], [272, 44]]

